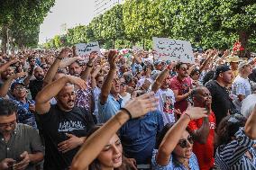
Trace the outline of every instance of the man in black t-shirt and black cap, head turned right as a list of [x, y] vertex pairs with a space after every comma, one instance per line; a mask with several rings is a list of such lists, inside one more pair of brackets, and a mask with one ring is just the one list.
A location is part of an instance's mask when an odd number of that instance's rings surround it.
[[232, 84], [232, 70], [227, 65], [220, 65], [215, 69], [213, 80], [206, 83], [212, 95], [212, 110], [215, 112], [216, 125], [227, 115], [236, 111], [233, 100], [227, 89]]

